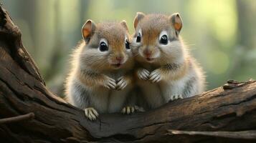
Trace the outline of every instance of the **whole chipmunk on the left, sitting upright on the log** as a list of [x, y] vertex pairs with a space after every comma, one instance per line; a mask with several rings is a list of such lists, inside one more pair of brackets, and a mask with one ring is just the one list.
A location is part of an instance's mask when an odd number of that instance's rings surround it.
[[65, 84], [67, 101], [84, 109], [90, 120], [97, 119], [99, 113], [133, 113], [133, 107], [125, 107], [133, 79], [126, 22], [95, 24], [87, 20], [82, 26], [82, 37], [72, 54]]

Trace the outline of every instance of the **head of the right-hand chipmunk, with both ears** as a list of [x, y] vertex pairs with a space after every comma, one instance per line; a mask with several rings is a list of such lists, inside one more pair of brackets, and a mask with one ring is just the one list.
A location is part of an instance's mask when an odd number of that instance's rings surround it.
[[133, 35], [132, 48], [136, 59], [149, 63], [161, 63], [182, 57], [179, 38], [181, 16], [171, 14], [145, 15], [138, 12], [134, 19], [136, 33]]

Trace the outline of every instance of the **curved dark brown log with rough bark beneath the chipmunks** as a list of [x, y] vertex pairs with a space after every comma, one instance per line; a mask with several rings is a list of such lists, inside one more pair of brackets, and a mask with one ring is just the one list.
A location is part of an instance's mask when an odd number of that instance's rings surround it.
[[1, 142], [255, 142], [256, 82], [223, 87], [133, 115], [85, 119], [47, 90], [22, 45], [21, 31], [0, 9]]

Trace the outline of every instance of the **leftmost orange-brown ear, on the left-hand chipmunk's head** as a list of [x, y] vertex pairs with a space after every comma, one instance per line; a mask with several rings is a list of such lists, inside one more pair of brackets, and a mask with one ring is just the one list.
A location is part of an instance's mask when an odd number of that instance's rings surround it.
[[96, 29], [95, 23], [88, 19], [85, 24], [82, 26], [82, 38], [85, 39], [85, 42], [90, 41], [90, 37], [93, 36], [93, 32]]

